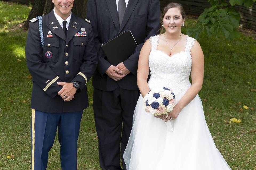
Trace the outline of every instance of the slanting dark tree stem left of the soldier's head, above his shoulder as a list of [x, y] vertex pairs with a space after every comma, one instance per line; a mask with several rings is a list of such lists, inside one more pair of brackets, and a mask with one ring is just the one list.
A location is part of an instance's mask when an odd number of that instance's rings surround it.
[[27, 17], [27, 20], [23, 27], [28, 28], [29, 27], [29, 20], [32, 18], [35, 18], [37, 16], [41, 16], [43, 13], [43, 7], [45, 6], [46, 0], [35, 0], [31, 11], [29, 12], [29, 16]]

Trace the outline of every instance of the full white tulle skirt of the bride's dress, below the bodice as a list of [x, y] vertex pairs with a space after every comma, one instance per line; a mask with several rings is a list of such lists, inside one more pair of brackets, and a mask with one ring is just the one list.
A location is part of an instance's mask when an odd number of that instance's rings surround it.
[[[176, 103], [184, 93], [175, 94]], [[145, 111], [143, 97], [139, 97], [134, 111], [133, 129], [124, 153], [127, 169], [231, 169], [214, 144], [198, 95], [171, 124], [172, 132], [163, 120]]]

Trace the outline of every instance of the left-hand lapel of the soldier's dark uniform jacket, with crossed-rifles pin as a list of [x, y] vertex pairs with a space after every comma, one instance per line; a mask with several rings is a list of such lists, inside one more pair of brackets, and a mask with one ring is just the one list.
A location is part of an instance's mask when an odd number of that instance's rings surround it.
[[65, 33], [63, 32], [61, 25], [59, 25], [59, 22], [56, 19], [53, 10], [49, 13], [48, 16], [49, 16], [49, 24], [47, 24], [47, 27], [51, 30], [51, 32], [59, 36], [61, 39], [65, 40], [66, 39]]

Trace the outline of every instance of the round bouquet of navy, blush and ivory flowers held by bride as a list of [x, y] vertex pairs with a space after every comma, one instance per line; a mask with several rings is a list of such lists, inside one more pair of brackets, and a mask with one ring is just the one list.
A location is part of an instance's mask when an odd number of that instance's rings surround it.
[[175, 106], [175, 95], [169, 88], [163, 87], [149, 91], [144, 97], [145, 111], [159, 116], [168, 115]]

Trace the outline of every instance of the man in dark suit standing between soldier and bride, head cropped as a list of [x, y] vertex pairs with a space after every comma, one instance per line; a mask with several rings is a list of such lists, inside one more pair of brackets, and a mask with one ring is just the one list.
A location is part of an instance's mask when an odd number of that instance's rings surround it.
[[[139, 97], [136, 79], [139, 52], [144, 42], [158, 32], [159, 0], [89, 0], [87, 18], [92, 22], [98, 58], [97, 70], [93, 74], [93, 107], [99, 162], [103, 170], [121, 169], [121, 142], [123, 169], [126, 169], [123, 152]], [[127, 29], [131, 30], [139, 45], [126, 61], [113, 66], [107, 61], [100, 44]]]

